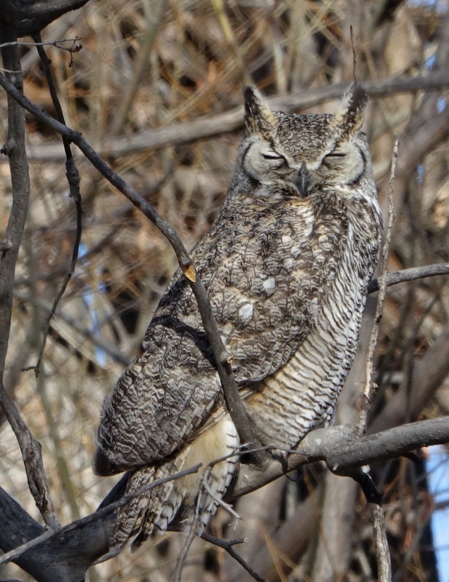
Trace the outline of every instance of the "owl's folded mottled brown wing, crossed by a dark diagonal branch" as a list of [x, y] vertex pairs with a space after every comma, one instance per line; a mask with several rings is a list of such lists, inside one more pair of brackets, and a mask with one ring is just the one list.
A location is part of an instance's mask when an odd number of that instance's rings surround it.
[[[279, 370], [307, 337], [347, 237], [344, 204], [336, 208], [326, 196], [255, 204], [225, 205], [192, 253], [242, 388]], [[222, 402], [197, 303], [180, 271], [143, 349], [104, 405], [102, 474], [165, 459]]]

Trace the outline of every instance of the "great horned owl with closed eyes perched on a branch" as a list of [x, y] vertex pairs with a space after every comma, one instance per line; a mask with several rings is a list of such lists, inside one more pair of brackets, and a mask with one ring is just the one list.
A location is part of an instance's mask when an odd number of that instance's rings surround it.
[[[245, 88], [248, 132], [234, 176], [191, 253], [263, 445], [291, 449], [329, 423], [357, 349], [382, 236], [359, 131], [366, 100], [354, 85], [336, 115], [290, 115]], [[202, 491], [201, 531], [236, 474], [240, 442], [180, 271], [142, 347], [105, 400], [95, 470], [130, 471], [130, 493], [227, 455], [209, 475], [213, 495]], [[175, 518], [191, 523], [201, 479], [199, 471], [166, 482], [120, 508], [112, 548], [140, 545]]]

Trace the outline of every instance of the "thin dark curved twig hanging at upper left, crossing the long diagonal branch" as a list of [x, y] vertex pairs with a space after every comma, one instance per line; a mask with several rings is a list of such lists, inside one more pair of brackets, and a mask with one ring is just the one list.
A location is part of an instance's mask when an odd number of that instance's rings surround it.
[[[45, 49], [41, 41], [41, 35], [37, 34], [34, 37], [34, 41], [37, 47], [37, 52], [42, 61], [42, 68], [44, 69], [45, 76], [47, 77], [48, 88], [50, 91], [50, 95], [52, 98], [52, 102], [56, 111], [56, 116], [60, 123], [66, 125], [64, 114], [62, 112], [62, 107], [59, 102], [58, 98], [58, 91], [56, 89], [55, 77], [53, 75], [53, 71], [51, 68], [51, 61], [48, 58], [47, 54], [45, 54]], [[69, 285], [69, 281], [72, 278], [73, 273], [75, 272], [76, 261], [78, 260], [78, 253], [80, 249], [81, 243], [81, 233], [83, 232], [83, 208], [81, 206], [81, 193], [80, 193], [80, 175], [76, 168], [75, 161], [73, 159], [72, 150], [70, 148], [70, 142], [67, 140], [66, 137], [62, 136], [62, 143], [64, 145], [64, 150], [66, 152], [66, 176], [67, 181], [69, 182], [70, 188], [70, 198], [74, 201], [75, 209], [76, 209], [76, 233], [75, 233], [75, 240], [73, 243], [73, 250], [72, 250], [72, 260], [70, 261], [70, 268], [67, 271], [65, 278], [63, 279], [62, 285], [59, 289], [59, 293], [56, 295], [56, 298], [53, 302], [53, 306], [51, 308], [50, 313], [45, 318], [44, 327], [42, 329], [42, 345], [40, 352], [38, 354], [37, 363], [34, 368], [34, 373], [38, 376], [40, 368], [41, 368], [41, 361], [42, 356], [44, 356], [45, 344], [47, 343], [47, 336], [48, 331], [50, 328], [50, 321], [52, 317], [55, 315], [56, 307], [58, 307], [58, 303], [65, 293], [67, 289], [67, 285]]]

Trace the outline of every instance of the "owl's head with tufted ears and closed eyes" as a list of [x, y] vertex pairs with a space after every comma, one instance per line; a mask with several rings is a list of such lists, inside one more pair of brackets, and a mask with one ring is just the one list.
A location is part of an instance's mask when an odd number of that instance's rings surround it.
[[272, 112], [255, 87], [245, 87], [244, 96], [243, 168], [267, 196], [273, 186], [306, 197], [326, 187], [350, 191], [372, 183], [368, 143], [360, 132], [368, 100], [361, 86], [350, 88], [336, 115]]

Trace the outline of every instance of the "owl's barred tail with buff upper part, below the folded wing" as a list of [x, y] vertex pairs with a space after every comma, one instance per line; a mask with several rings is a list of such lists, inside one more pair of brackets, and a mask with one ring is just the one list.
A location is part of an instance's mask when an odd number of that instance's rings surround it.
[[[156, 485], [122, 506], [117, 512], [111, 550], [121, 551], [130, 541], [132, 549], [136, 549], [150, 535], [166, 531], [173, 520], [179, 521], [181, 528], [187, 530], [193, 523], [197, 504], [197, 534], [201, 534], [236, 473], [238, 446], [236, 428], [226, 416], [168, 462], [159, 467], [144, 467], [134, 471], [127, 483], [127, 494], [133, 494], [158, 479], [202, 463], [198, 473]], [[234, 452], [235, 455], [232, 454]], [[231, 456], [213, 463], [227, 455]], [[206, 471], [210, 493], [202, 487]], [[199, 502], [198, 495], [201, 495]]]

